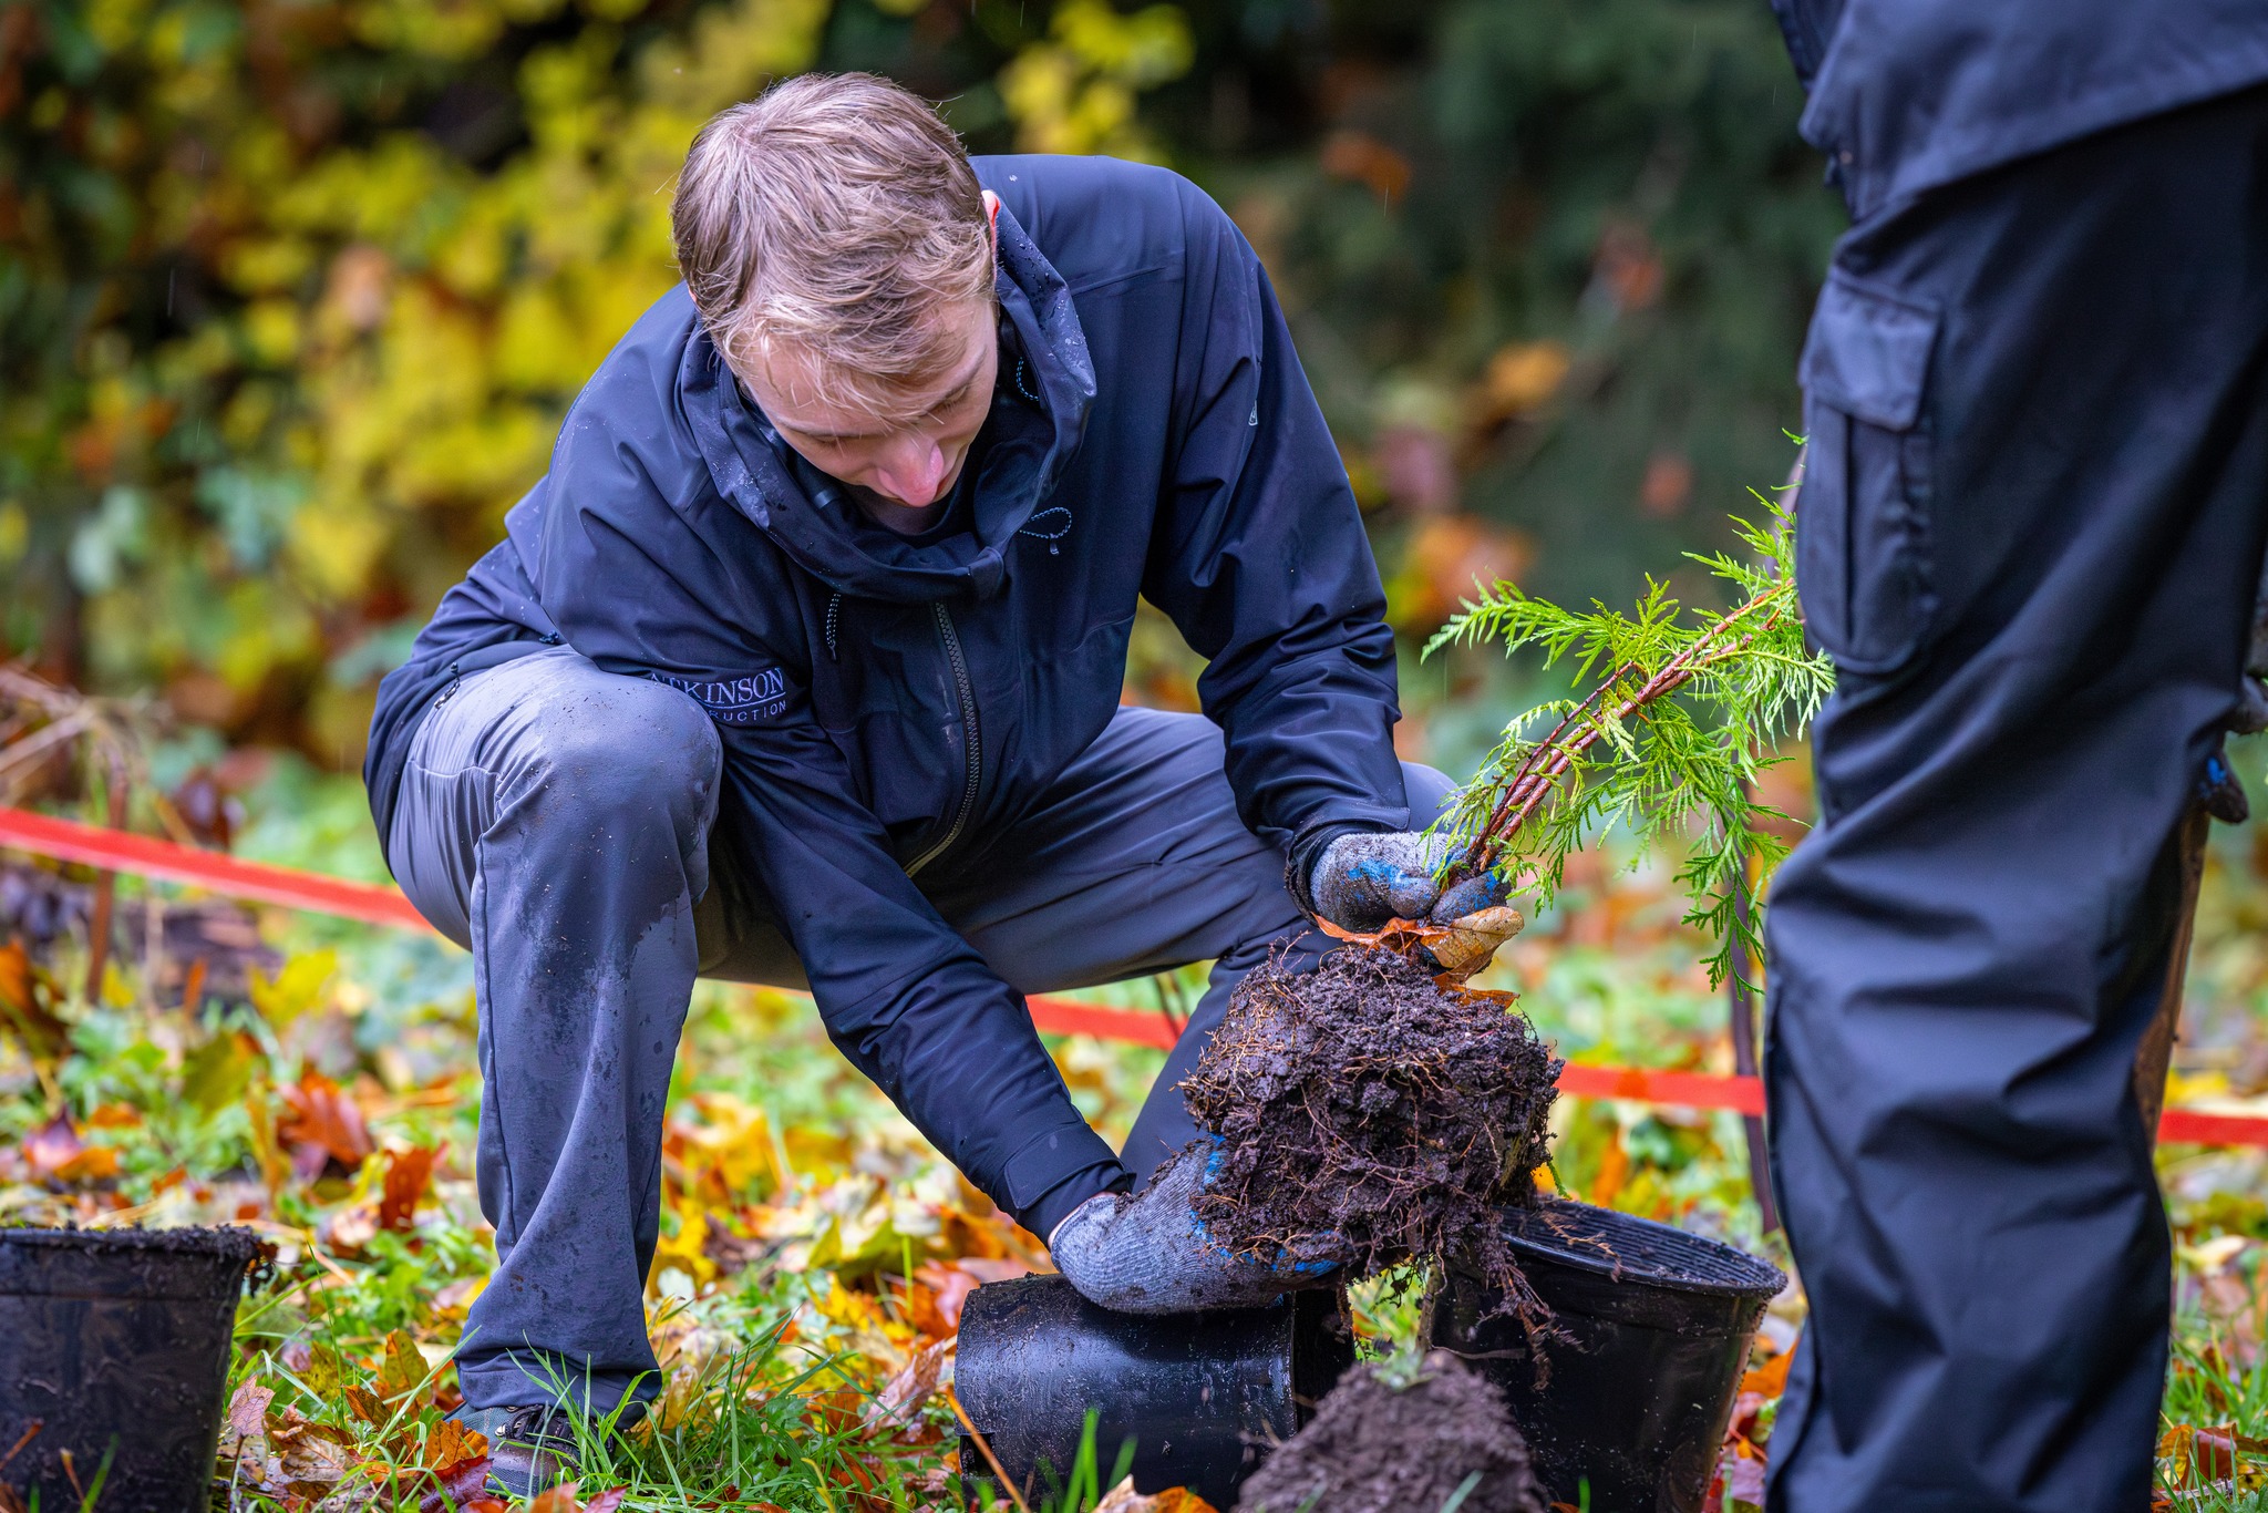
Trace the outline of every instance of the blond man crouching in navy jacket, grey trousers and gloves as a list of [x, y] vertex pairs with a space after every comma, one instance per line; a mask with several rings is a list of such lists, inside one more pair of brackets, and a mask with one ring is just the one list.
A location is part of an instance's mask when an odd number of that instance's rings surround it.
[[[1247, 969], [1313, 950], [1306, 910], [1440, 907], [1413, 830], [1447, 785], [1393, 753], [1354, 497], [1211, 200], [971, 163], [850, 75], [717, 116], [674, 218], [685, 286], [386, 681], [367, 764], [395, 876], [474, 953], [497, 1270], [458, 1377], [519, 1493], [558, 1415], [658, 1386], [696, 975], [807, 984], [1098, 1302], [1266, 1302], [1288, 1277], [1207, 1245], [1191, 1193], [1125, 1193], [1195, 1139], [1175, 1084]], [[1204, 717], [1118, 708], [1136, 597], [1211, 658]], [[1200, 960], [1114, 1155], [1023, 994]]]

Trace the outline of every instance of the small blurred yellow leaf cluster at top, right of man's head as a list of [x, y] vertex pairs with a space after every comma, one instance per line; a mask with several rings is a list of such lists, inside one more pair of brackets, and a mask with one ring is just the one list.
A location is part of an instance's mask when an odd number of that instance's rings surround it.
[[1000, 70], [1000, 100], [1025, 152], [1107, 152], [1161, 161], [1134, 120], [1134, 100], [1188, 73], [1188, 18], [1173, 5], [1125, 16], [1105, 0], [1064, 0], [1048, 41]]

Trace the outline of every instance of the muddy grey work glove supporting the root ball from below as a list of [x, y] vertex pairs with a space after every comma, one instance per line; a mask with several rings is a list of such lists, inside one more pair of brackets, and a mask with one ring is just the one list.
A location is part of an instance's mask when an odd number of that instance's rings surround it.
[[1055, 1270], [1080, 1298], [1118, 1313], [1198, 1313], [1259, 1309], [1293, 1288], [1322, 1286], [1329, 1261], [1234, 1254], [1198, 1218], [1198, 1193], [1220, 1168], [1220, 1139], [1191, 1146], [1150, 1177], [1141, 1193], [1100, 1193], [1048, 1236]]

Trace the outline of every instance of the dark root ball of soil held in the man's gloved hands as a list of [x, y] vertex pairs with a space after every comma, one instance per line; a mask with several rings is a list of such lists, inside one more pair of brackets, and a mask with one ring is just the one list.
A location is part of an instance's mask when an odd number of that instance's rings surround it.
[[1399, 953], [1259, 966], [1182, 1082], [1220, 1136], [1198, 1216], [1241, 1254], [1354, 1277], [1458, 1257], [1533, 1327], [1499, 1211], [1535, 1202], [1558, 1071], [1508, 996]]

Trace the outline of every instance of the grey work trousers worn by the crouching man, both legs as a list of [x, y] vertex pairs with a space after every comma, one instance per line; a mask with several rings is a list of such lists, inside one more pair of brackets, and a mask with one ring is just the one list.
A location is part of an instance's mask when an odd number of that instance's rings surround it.
[[[458, 1352], [472, 1406], [658, 1391], [644, 1279], [694, 978], [803, 987], [753, 889], [710, 887], [744, 871], [710, 855], [721, 760], [692, 699], [567, 646], [472, 674], [417, 726], [388, 860], [472, 950], [481, 1009], [497, 1270]], [[1429, 823], [1449, 783], [1404, 778]], [[1236, 819], [1220, 730], [1154, 710], [1120, 710], [991, 851], [1014, 862], [923, 885], [1018, 991], [1218, 962], [1127, 1141], [1148, 1175], [1195, 1136], [1177, 1084], [1229, 989], [1277, 941], [1306, 950], [1284, 857]]]

